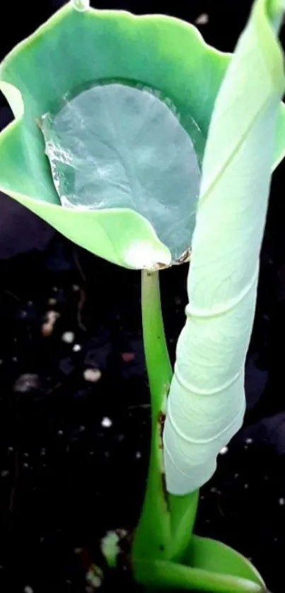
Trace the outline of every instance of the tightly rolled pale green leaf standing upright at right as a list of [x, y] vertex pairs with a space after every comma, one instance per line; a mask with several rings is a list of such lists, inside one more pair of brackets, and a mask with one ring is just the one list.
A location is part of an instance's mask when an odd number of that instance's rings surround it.
[[163, 435], [168, 491], [185, 495], [216, 469], [245, 412], [244, 366], [274, 161], [284, 64], [274, 27], [284, 2], [257, 0], [224, 78], [202, 168]]

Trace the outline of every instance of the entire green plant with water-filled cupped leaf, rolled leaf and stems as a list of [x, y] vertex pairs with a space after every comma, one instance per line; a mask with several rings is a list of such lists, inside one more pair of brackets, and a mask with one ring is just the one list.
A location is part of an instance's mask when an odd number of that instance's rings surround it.
[[[198, 489], [243, 419], [269, 182], [285, 154], [283, 4], [255, 2], [231, 57], [180, 20], [76, 0], [0, 66], [15, 115], [0, 134], [1, 191], [142, 269], [152, 443], [132, 566], [149, 588], [266, 591], [248, 560], [192, 531]], [[173, 375], [158, 270], [190, 248]]]

